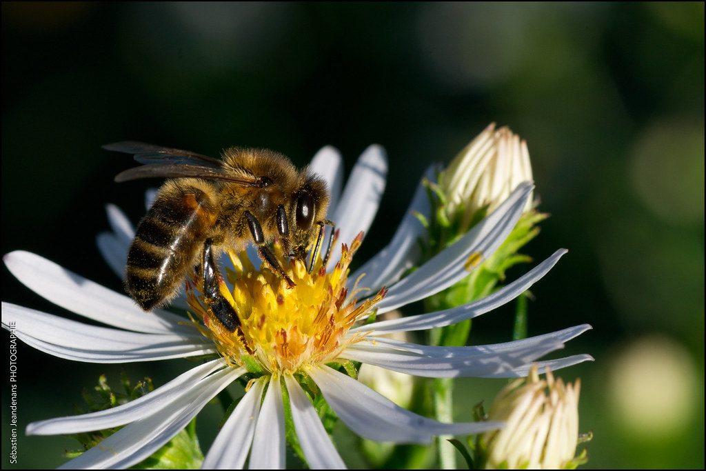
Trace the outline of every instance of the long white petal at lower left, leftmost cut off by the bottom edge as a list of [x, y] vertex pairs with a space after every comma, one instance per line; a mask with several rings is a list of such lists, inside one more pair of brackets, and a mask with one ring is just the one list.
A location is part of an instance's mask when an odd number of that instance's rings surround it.
[[78, 467], [126, 468], [148, 458], [186, 427], [217, 393], [243, 369], [227, 368], [208, 376], [198, 387], [186, 390], [172, 404], [132, 422], [60, 469]]

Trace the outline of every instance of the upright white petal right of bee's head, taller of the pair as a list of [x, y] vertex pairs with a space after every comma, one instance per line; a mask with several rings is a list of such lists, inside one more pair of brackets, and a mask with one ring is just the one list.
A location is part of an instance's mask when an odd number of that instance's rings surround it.
[[329, 266], [340, 260], [341, 244], [350, 244], [359, 232], [368, 231], [378, 212], [387, 173], [385, 150], [379, 145], [370, 145], [353, 167], [341, 201], [330, 216], [340, 232], [331, 250]]

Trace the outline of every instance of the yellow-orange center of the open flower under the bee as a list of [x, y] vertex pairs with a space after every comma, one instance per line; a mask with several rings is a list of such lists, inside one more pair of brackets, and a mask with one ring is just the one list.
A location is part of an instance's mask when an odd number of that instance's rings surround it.
[[335, 361], [347, 345], [362, 339], [346, 334], [386, 292], [383, 288], [359, 306], [354, 295], [360, 290], [348, 295], [348, 267], [362, 235], [350, 248], [343, 245], [333, 270], [322, 268], [319, 258], [311, 275], [301, 260], [285, 258], [275, 244], [275, 256], [294, 287], [264, 264], [256, 270], [244, 251], [229, 251], [234, 268], [227, 268], [227, 281], [233, 288], [221, 282], [220, 292], [238, 313], [240, 326], [227, 330], [188, 287], [189, 304], [205, 326], [199, 330], [233, 366], [251, 366], [253, 359], [263, 371], [294, 373], [302, 366]]

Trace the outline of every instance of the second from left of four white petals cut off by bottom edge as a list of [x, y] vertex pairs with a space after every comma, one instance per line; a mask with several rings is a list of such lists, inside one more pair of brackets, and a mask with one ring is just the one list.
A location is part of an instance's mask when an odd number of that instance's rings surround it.
[[263, 381], [256, 381], [245, 393], [208, 450], [201, 465], [203, 469], [241, 470], [243, 468], [253, 442], [264, 388]]

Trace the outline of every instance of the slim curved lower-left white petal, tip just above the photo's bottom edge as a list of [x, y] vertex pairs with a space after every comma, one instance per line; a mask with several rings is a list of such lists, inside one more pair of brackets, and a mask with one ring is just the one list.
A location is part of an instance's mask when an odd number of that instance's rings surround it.
[[[111, 429], [152, 414], [155, 410], [174, 403], [179, 395], [198, 387], [204, 378], [224, 366], [222, 359], [196, 366], [156, 388], [151, 393], [129, 403], [90, 414], [56, 417], [32, 422], [27, 426], [28, 435], [68, 435], [83, 431]], [[241, 371], [241, 374], [244, 371]], [[206, 380], [208, 381], [208, 380]]]

